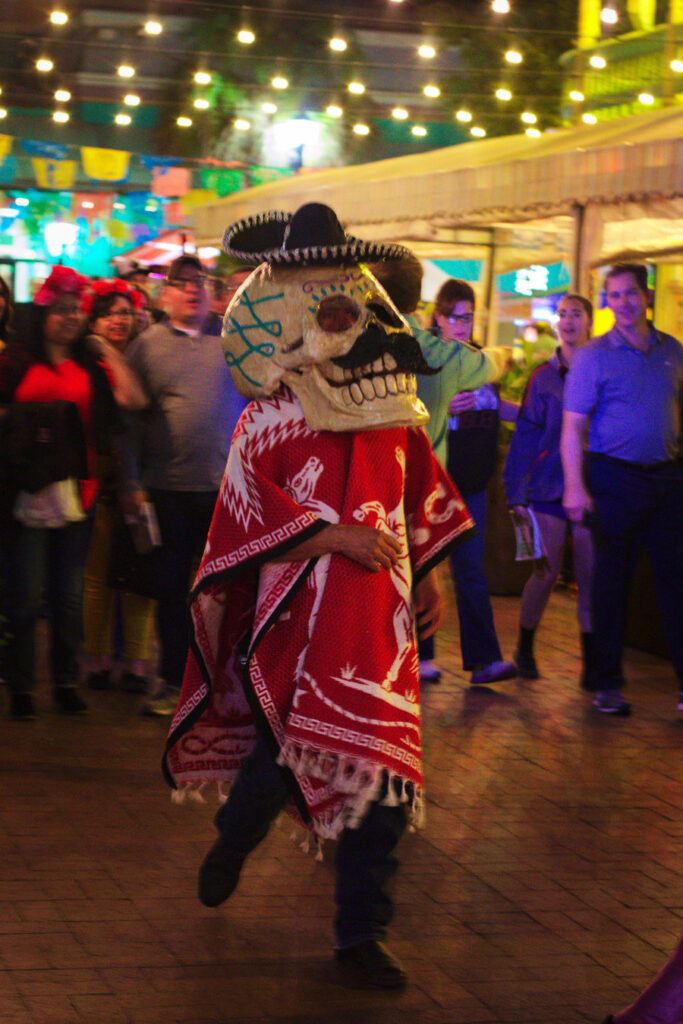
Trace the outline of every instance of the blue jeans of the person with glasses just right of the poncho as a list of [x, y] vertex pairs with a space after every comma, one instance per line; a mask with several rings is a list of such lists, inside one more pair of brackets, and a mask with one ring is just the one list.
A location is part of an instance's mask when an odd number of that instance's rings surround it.
[[465, 502], [474, 520], [476, 534], [454, 548], [449, 558], [456, 585], [463, 669], [472, 672], [479, 666], [500, 662], [503, 655], [483, 572], [486, 492], [468, 495]]

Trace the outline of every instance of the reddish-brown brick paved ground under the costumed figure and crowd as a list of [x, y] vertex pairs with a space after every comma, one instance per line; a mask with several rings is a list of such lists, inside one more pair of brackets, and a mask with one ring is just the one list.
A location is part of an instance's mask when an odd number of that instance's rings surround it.
[[[510, 653], [517, 601], [495, 608]], [[401, 994], [342, 987], [329, 863], [287, 824], [230, 902], [203, 908], [212, 808], [171, 805], [166, 724], [120, 693], [65, 720], [45, 685], [37, 722], [2, 722], [2, 1024], [599, 1024], [683, 930], [683, 724], [671, 666], [633, 651], [634, 716], [589, 710], [566, 594], [539, 657], [539, 682], [474, 691], [443, 635], [424, 694], [428, 825], [404, 840], [395, 890]]]

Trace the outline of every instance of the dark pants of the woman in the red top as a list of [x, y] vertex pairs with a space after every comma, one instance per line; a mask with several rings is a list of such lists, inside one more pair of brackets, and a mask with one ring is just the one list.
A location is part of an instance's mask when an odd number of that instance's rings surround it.
[[55, 687], [76, 686], [83, 640], [83, 569], [92, 520], [55, 529], [12, 525], [7, 538], [6, 614], [10, 633], [6, 675], [10, 690], [31, 693], [36, 624], [47, 606], [49, 665]]

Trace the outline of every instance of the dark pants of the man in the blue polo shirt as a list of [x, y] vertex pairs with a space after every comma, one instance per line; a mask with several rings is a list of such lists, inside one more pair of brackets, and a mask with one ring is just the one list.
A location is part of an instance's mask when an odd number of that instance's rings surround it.
[[644, 470], [589, 456], [588, 482], [597, 513], [593, 570], [595, 688], [621, 689], [629, 586], [644, 544], [683, 688], [683, 466]]

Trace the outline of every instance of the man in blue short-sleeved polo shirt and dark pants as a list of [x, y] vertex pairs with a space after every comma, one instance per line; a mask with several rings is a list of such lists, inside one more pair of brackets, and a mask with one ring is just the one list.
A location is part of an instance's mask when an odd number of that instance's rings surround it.
[[683, 347], [647, 319], [644, 266], [615, 264], [605, 290], [614, 327], [577, 353], [564, 390], [561, 440], [562, 504], [573, 521], [592, 518], [596, 531], [593, 703], [612, 715], [631, 710], [622, 696], [624, 623], [644, 543], [683, 711]]

